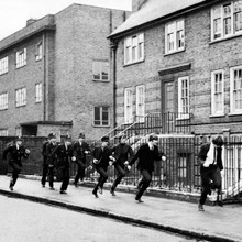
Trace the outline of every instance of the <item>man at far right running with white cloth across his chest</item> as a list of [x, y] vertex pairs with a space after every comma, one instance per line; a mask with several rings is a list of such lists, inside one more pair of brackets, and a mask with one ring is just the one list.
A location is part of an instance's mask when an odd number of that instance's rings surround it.
[[217, 202], [222, 206], [219, 200], [221, 194], [221, 172], [222, 165], [222, 145], [223, 140], [221, 136], [217, 136], [210, 143], [204, 144], [198, 154], [200, 158], [200, 175], [201, 175], [201, 196], [198, 204], [198, 210], [205, 211], [204, 205], [206, 202], [208, 194], [211, 194], [211, 189], [218, 189]]

